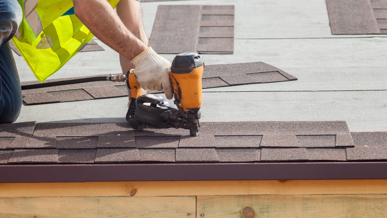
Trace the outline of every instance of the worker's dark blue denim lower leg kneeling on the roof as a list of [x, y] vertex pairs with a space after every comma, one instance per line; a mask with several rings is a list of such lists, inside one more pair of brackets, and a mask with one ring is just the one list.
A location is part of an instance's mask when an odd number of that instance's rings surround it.
[[22, 93], [19, 74], [9, 43], [0, 46], [0, 123], [12, 123], [19, 117]]

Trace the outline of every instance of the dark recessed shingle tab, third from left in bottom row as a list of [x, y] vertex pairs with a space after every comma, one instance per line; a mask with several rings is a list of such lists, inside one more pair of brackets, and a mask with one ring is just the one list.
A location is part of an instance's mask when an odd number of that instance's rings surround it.
[[94, 163], [97, 149], [58, 150], [58, 163]]

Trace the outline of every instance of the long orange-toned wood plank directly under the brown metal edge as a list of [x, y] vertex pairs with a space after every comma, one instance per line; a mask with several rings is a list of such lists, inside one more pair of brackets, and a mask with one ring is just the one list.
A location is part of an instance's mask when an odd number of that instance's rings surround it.
[[0, 183], [0, 197], [387, 194], [387, 180]]

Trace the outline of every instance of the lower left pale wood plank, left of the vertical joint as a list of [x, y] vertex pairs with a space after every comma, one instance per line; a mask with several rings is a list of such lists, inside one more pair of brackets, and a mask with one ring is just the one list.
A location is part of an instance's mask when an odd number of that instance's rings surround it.
[[187, 217], [195, 197], [2, 197], [0, 217]]

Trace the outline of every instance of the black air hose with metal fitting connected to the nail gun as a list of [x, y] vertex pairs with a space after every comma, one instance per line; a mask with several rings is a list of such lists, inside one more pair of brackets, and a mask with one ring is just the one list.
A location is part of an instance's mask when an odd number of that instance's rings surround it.
[[70, 84], [77, 84], [77, 83], [84, 83], [84, 82], [96, 82], [96, 81], [125, 82], [126, 75], [116, 76], [116, 75], [110, 74], [110, 76], [96, 76], [96, 77], [87, 77], [87, 78], [81, 78], [81, 79], [70, 79], [70, 80], [55, 81], [55, 82], [45, 82], [45, 83], [24, 85], [24, 86], [21, 86], [21, 88], [22, 88], [22, 90], [39, 89], [39, 88], [46, 88], [46, 87], [52, 87], [52, 86], [64, 86], [64, 85], [70, 85]]

